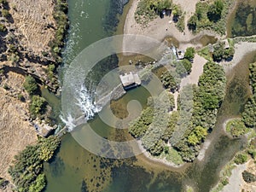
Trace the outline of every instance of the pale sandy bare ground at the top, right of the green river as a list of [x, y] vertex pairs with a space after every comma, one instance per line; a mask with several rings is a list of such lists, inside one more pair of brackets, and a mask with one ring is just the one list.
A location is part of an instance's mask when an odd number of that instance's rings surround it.
[[[175, 0], [173, 3], [180, 4], [182, 9], [186, 11], [185, 20], [188, 20], [191, 15], [195, 13], [195, 4], [200, 0]], [[185, 31], [179, 32], [177, 27], [172, 21], [172, 16], [165, 16], [163, 19], [160, 17], [150, 21], [148, 27], [141, 26], [137, 24], [134, 15], [137, 9], [137, 3], [139, 0], [133, 0], [131, 9], [129, 10], [124, 27], [124, 34], [135, 34], [148, 36], [154, 38], [158, 41], [164, 40], [166, 37], [173, 37], [178, 39], [180, 42], [179, 47], [181, 49], [186, 49], [189, 46], [200, 47], [201, 44], [190, 44], [190, 41], [194, 38], [199, 38], [201, 35], [209, 32], [201, 32], [198, 35], [194, 35], [189, 32], [187, 25], [185, 24]], [[219, 37], [218, 37], [219, 38]], [[123, 49], [125, 50], [126, 44], [129, 44], [130, 39], [123, 41]], [[141, 44], [143, 46], [143, 44]]]

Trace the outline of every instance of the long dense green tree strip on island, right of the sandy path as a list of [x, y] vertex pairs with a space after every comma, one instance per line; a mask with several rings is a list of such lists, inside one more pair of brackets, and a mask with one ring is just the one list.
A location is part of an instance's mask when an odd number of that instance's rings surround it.
[[223, 67], [214, 62], [207, 62], [199, 79], [198, 87], [194, 87], [194, 109], [189, 129], [181, 141], [174, 144], [183, 160], [192, 161], [199, 152], [199, 144], [213, 128], [217, 109], [224, 99], [225, 73]]

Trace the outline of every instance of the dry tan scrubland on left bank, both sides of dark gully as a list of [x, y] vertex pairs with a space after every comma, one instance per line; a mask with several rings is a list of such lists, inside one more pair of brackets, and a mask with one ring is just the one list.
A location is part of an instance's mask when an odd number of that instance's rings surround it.
[[[4, 43], [12, 39], [19, 50], [20, 60], [0, 60], [0, 69], [3, 66], [23, 67], [28, 73], [47, 80], [44, 61], [48, 59], [42, 56], [42, 52], [49, 52], [49, 41], [55, 35], [54, 1], [8, 0], [8, 3], [11, 16], [8, 20], [1, 19], [8, 32], [0, 38]], [[0, 44], [0, 55], [9, 51], [4, 45], [9, 46]], [[0, 177], [8, 180], [9, 164], [15, 154], [37, 141], [29, 121], [28, 102], [21, 102], [18, 98], [22, 94], [29, 101], [23, 88], [24, 81], [25, 77], [21, 74], [3, 73], [3, 70], [0, 73]]]

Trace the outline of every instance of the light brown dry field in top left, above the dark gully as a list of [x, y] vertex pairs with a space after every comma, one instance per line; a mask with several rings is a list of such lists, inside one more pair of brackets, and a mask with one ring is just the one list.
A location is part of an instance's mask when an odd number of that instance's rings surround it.
[[[35, 54], [49, 51], [49, 41], [54, 38], [55, 20], [53, 0], [9, 0], [10, 14], [20, 36], [20, 44]], [[15, 8], [15, 9], [14, 9]]]

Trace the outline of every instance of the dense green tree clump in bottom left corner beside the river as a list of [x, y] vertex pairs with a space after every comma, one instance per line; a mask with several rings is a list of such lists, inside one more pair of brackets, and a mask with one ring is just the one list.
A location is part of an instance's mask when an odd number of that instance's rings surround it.
[[[59, 144], [59, 137], [42, 138], [37, 145], [27, 146], [20, 154], [15, 155], [13, 166], [9, 167], [9, 174], [15, 183], [17, 191], [43, 191], [46, 186], [46, 178], [42, 173], [43, 162], [50, 160]], [[44, 158], [41, 155], [42, 153], [49, 155]]]

